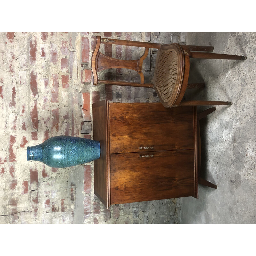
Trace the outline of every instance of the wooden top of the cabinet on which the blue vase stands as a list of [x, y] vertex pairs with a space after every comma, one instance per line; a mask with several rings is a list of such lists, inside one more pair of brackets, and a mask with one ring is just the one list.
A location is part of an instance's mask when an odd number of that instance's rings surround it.
[[108, 208], [109, 201], [109, 156], [108, 156], [108, 102], [92, 104], [93, 139], [100, 142], [100, 158], [94, 160], [94, 194]]

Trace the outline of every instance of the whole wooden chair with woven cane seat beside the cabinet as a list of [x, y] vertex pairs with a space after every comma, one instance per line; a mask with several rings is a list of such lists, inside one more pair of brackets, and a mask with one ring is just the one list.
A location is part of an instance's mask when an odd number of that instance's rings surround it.
[[[99, 51], [101, 43], [145, 47], [145, 52], [138, 60], [115, 59]], [[149, 48], [159, 50], [157, 52], [153, 83], [144, 83], [142, 64], [143, 60], [145, 60], [148, 55]], [[153, 88], [166, 108], [188, 105], [231, 105], [232, 102], [229, 101], [182, 100], [186, 89], [203, 88], [205, 85], [204, 83], [188, 84], [190, 58], [246, 60], [244, 56], [209, 53], [212, 52], [213, 49], [214, 47], [212, 46], [181, 45], [177, 43], [157, 44], [107, 39], [97, 36], [96, 46], [92, 53], [91, 60], [93, 85], [112, 84]], [[140, 75], [140, 83], [98, 80], [97, 73], [110, 68], [135, 70]]]

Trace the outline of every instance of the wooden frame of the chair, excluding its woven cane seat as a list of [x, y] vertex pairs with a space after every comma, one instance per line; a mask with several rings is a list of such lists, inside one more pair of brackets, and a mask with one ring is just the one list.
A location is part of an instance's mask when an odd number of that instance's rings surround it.
[[[118, 44], [124, 46], [136, 46], [136, 47], [144, 47], [144, 54], [137, 60], [121, 60], [115, 59], [112, 57], [108, 57], [102, 54], [100, 49], [100, 44]], [[182, 75], [177, 83], [175, 88], [174, 96], [171, 101], [164, 102], [159, 96], [162, 104], [166, 108], [170, 108], [172, 106], [198, 106], [198, 105], [231, 105], [232, 102], [229, 101], [205, 101], [205, 100], [183, 100], [186, 89], [192, 88], [204, 88], [205, 83], [193, 83], [188, 84], [188, 76], [190, 69], [190, 58], [203, 58], [203, 59], [228, 59], [228, 60], [246, 60], [247, 57], [241, 55], [230, 55], [230, 54], [218, 54], [211, 53], [214, 49], [213, 46], [196, 46], [196, 45], [181, 45], [177, 43], [172, 44], [158, 44], [158, 43], [150, 43], [150, 42], [137, 42], [137, 41], [129, 41], [129, 40], [119, 40], [119, 39], [107, 39], [101, 38], [100, 36], [96, 37], [96, 45], [95, 49], [92, 53], [91, 66], [92, 66], [92, 74], [93, 74], [93, 85], [99, 84], [109, 84], [109, 85], [122, 85], [122, 86], [134, 86], [134, 87], [147, 87], [154, 89], [157, 94], [159, 92], [154, 86], [154, 83], [144, 83], [144, 75], [142, 73], [142, 64], [143, 60], [148, 55], [149, 48], [155, 48], [158, 50], [169, 49], [170, 47], [176, 47], [176, 51], [180, 55], [180, 59], [182, 60], [180, 63], [180, 69]], [[157, 63], [157, 60], [156, 60]], [[124, 81], [113, 81], [113, 80], [98, 80], [97, 72], [100, 72], [109, 68], [126, 68], [132, 69], [138, 72], [140, 75], [140, 83], [136, 82], [124, 82]], [[154, 73], [155, 75], [155, 73]], [[155, 78], [155, 76], [154, 76]], [[154, 82], [153, 78], [153, 82]]]

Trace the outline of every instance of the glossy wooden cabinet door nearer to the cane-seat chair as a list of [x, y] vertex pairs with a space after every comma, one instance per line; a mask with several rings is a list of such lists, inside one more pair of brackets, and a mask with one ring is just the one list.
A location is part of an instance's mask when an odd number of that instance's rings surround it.
[[193, 111], [161, 103], [109, 103], [110, 154], [193, 149]]

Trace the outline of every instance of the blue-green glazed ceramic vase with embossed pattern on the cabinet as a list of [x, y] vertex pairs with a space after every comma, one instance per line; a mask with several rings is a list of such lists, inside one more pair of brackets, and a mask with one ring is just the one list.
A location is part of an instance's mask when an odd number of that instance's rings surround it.
[[56, 136], [42, 144], [27, 147], [27, 160], [63, 168], [100, 158], [100, 142], [79, 137]]

